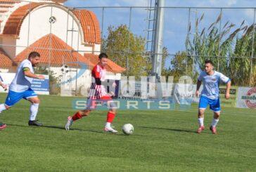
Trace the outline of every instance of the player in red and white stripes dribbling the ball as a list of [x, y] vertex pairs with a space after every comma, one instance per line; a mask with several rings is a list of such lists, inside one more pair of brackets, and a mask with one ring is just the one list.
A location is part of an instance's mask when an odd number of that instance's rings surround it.
[[96, 109], [96, 102], [101, 100], [103, 102], [108, 102], [108, 105], [110, 107], [104, 131], [110, 133], [117, 133], [117, 131], [111, 126], [111, 123], [115, 118], [116, 106], [115, 103], [112, 101], [111, 96], [105, 91], [105, 87], [101, 84], [101, 82], [105, 81], [105, 66], [108, 62], [108, 55], [106, 55], [105, 53], [101, 53], [100, 55], [98, 55], [98, 59], [98, 64], [91, 71], [91, 88], [89, 91], [89, 98], [87, 100], [87, 109], [78, 111], [72, 117], [68, 117], [68, 122], [65, 125], [65, 129], [67, 131], [70, 129], [70, 126], [72, 126], [73, 121], [81, 119], [82, 117], [87, 117], [91, 110]]

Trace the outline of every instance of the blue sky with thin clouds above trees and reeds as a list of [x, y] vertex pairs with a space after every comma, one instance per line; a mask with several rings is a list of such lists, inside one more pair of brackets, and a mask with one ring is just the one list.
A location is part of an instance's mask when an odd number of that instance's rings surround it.
[[[148, 4], [149, 0], [68, 0], [65, 2], [65, 6], [86, 8], [94, 11], [100, 22], [103, 37], [107, 36], [107, 29], [110, 25], [117, 27], [125, 24], [130, 26], [134, 34], [145, 39], [147, 39], [146, 30], [148, 29], [148, 21], [146, 20], [148, 11], [146, 11], [146, 8], [132, 8], [132, 18], [130, 20], [130, 8], [104, 8], [104, 15], [102, 15], [103, 8], [101, 7], [146, 7]], [[198, 30], [203, 30], [204, 27], [209, 27], [212, 22], [215, 22], [220, 13], [219, 7], [244, 8], [223, 9], [222, 26], [229, 21], [236, 25], [233, 28], [234, 30], [241, 25], [243, 20], [245, 20], [245, 25], [252, 25], [254, 22], [253, 8], [256, 8], [256, 0], [165, 0], [165, 7], [193, 7], [189, 20], [191, 22], [191, 34], [193, 34], [196, 16], [200, 17], [204, 13], [204, 18], [198, 27]], [[196, 7], [200, 7], [200, 9]], [[214, 7], [216, 9], [202, 9], [202, 7]], [[188, 16], [188, 8], [165, 8], [163, 45], [167, 47], [169, 54], [186, 50], [184, 43], [188, 30]], [[169, 67], [171, 58], [172, 55], [167, 58], [165, 67]]]

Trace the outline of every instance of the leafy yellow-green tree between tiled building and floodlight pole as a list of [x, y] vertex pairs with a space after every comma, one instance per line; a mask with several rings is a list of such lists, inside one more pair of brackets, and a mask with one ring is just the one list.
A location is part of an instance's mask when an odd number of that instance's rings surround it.
[[126, 67], [128, 76], [147, 75], [151, 68], [145, 55], [145, 39], [129, 31], [127, 25], [108, 27], [108, 37], [103, 39], [103, 51], [111, 60]]

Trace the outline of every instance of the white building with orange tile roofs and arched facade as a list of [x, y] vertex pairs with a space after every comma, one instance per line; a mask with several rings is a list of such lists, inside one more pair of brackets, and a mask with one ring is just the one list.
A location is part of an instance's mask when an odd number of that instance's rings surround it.
[[[72, 78], [87, 66], [83, 79], [72, 83], [90, 85], [90, 70], [101, 52], [101, 29], [92, 11], [63, 6], [65, 0], [0, 0], [0, 72], [15, 72], [15, 67], [31, 51], [41, 54], [40, 65], [63, 76], [68, 67]], [[107, 71], [120, 79], [124, 68], [108, 60]]]

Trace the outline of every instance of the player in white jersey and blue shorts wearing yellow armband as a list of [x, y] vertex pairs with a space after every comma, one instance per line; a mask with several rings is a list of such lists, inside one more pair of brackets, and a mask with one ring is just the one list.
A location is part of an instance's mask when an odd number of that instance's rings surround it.
[[[33, 51], [26, 60], [20, 63], [17, 73], [9, 86], [6, 102], [0, 105], [0, 113], [9, 110], [21, 99], [31, 102], [29, 126], [41, 126], [37, 120], [37, 112], [39, 107], [39, 98], [37, 93], [31, 88], [32, 79], [44, 79], [43, 75], [34, 74], [33, 67], [39, 63], [40, 54]], [[0, 129], [6, 128], [6, 124], [1, 124]]]

